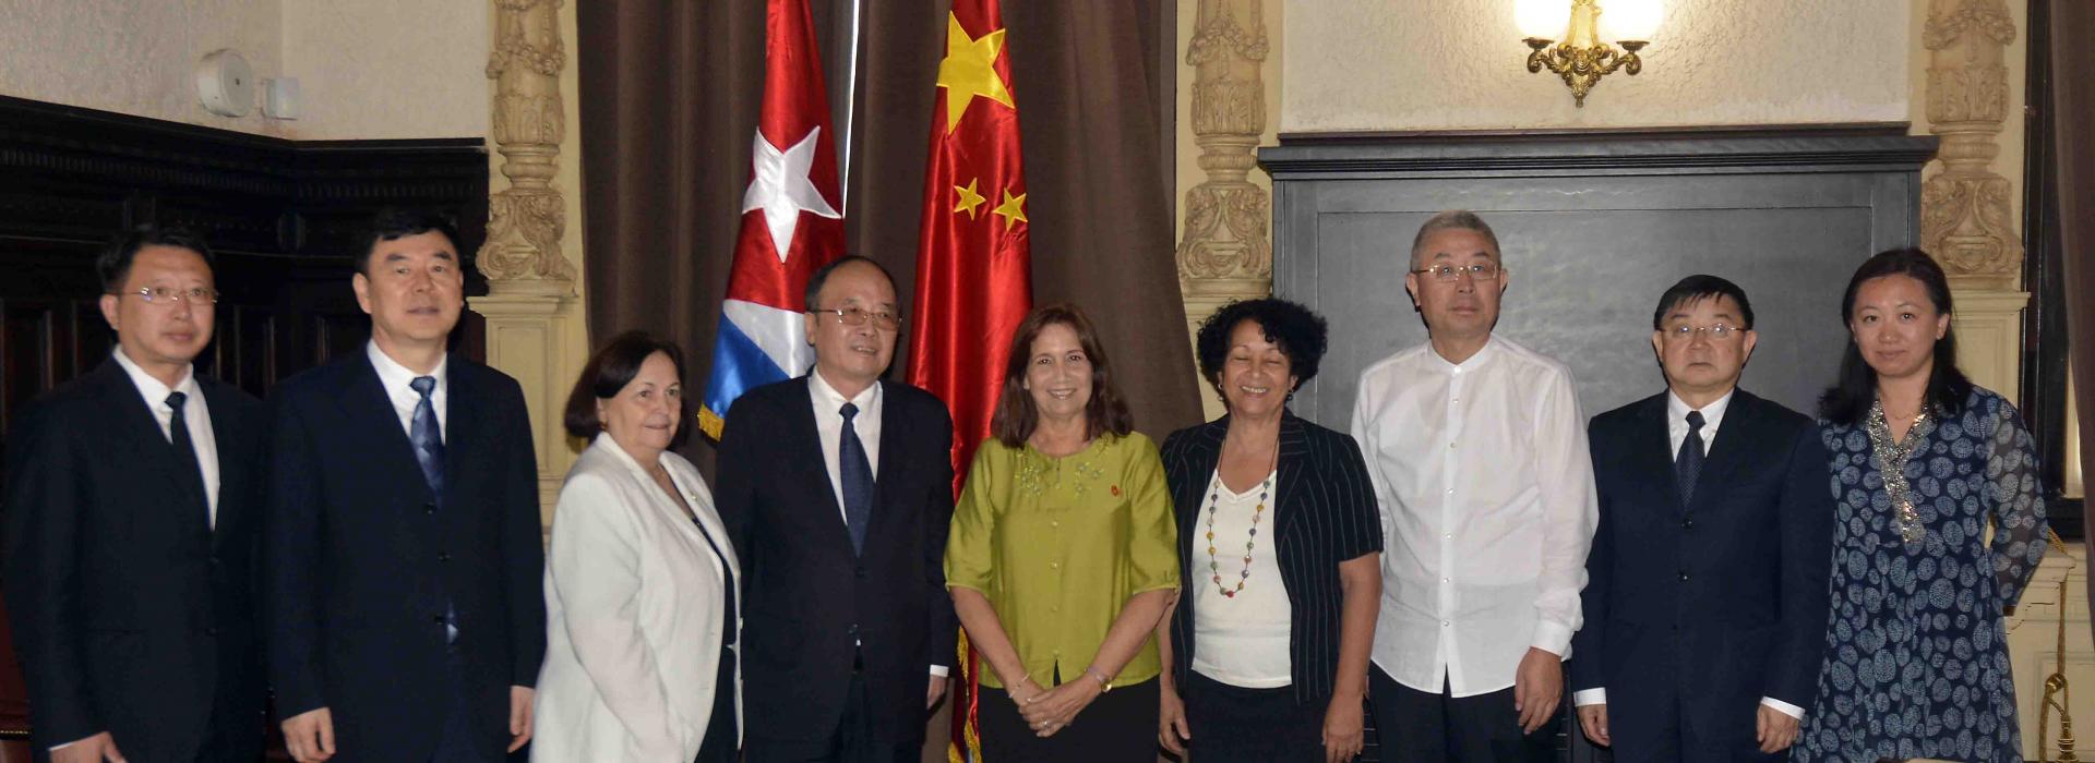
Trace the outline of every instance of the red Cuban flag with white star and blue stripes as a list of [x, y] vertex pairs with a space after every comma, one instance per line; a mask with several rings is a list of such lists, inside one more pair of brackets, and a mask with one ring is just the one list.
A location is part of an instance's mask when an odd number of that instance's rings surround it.
[[771, 0], [765, 107], [712, 343], [712, 376], [698, 410], [698, 426], [708, 437], [721, 439], [727, 412], [744, 391], [798, 376], [815, 364], [802, 330], [802, 299], [809, 276], [844, 255], [836, 188], [836, 138], [807, 0]]

